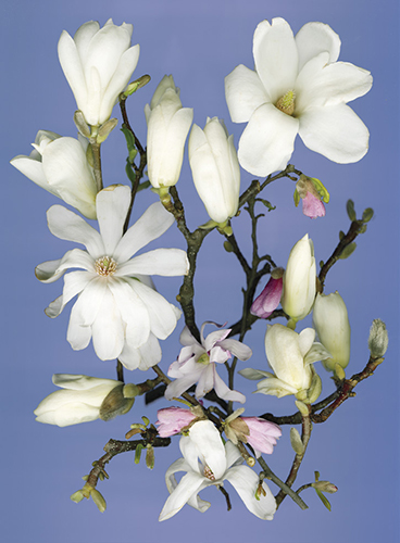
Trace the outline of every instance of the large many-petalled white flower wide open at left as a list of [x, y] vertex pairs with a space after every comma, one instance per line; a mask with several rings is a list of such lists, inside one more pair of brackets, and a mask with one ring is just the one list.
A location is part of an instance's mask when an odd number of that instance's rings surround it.
[[135, 369], [145, 356], [140, 369], [147, 369], [157, 363], [152, 359], [152, 353], [158, 351], [157, 338], [172, 333], [180, 312], [146, 285], [148, 278], [143, 275], [185, 275], [188, 261], [180, 249], [155, 249], [132, 257], [164, 233], [174, 219], [157, 202], [123, 235], [129, 202], [130, 189], [122, 185], [98, 193], [100, 232], [65, 207], [50, 207], [50, 231], [58, 238], [83, 243], [86, 251], [73, 249], [61, 260], [45, 262], [37, 266], [36, 276], [42, 282], [53, 282], [68, 268], [83, 268], [65, 276], [62, 295], [46, 314], [57, 317], [78, 294], [67, 330], [72, 348], [85, 349], [92, 338], [102, 361], [120, 357], [125, 367]]

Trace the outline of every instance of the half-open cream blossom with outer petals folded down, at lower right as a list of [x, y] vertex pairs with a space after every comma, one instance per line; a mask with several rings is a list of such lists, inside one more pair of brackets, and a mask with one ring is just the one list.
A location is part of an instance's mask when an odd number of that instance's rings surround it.
[[[312, 363], [330, 357], [318, 342], [315, 330], [305, 328], [300, 333], [283, 325], [268, 326], [265, 334], [265, 354], [275, 374], [246, 368], [239, 371], [247, 379], [262, 379], [257, 392], [282, 397], [307, 391], [312, 381]], [[263, 379], [266, 378], [266, 379]]]

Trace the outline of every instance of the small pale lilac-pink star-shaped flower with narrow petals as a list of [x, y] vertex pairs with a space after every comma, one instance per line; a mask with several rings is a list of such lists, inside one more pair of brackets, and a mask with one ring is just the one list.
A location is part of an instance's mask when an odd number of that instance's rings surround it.
[[196, 397], [202, 397], [214, 389], [216, 394], [226, 401], [245, 403], [246, 396], [228, 389], [216, 372], [215, 364], [224, 364], [232, 355], [237, 356], [239, 361], [247, 361], [252, 351], [240, 341], [225, 339], [230, 332], [229, 328], [211, 332], [204, 339], [203, 330], [208, 324], [221, 328], [220, 325], [212, 321], [203, 323], [200, 330], [201, 344], [185, 326], [179, 338], [180, 343], [185, 346], [180, 350], [178, 359], [171, 364], [167, 372], [168, 377], [174, 377], [176, 381], [166, 387], [165, 397], [166, 400], [178, 397], [197, 382]]

